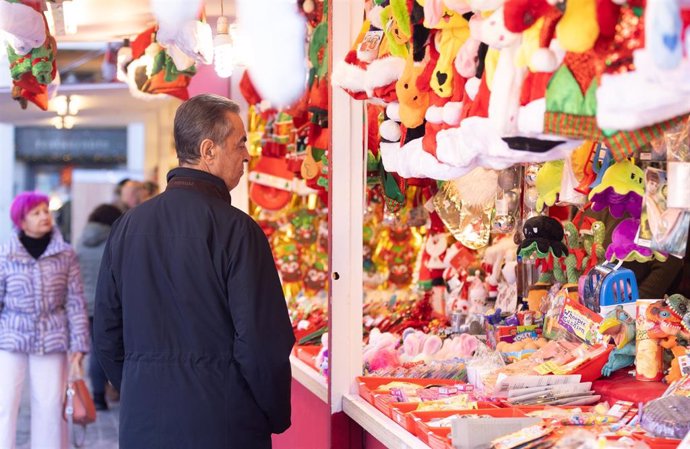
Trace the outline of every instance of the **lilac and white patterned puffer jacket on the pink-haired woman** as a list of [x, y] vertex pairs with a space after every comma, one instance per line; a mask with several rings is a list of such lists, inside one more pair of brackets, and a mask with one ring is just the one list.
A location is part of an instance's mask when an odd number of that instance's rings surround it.
[[59, 231], [38, 260], [15, 234], [0, 247], [0, 350], [88, 352], [79, 262]]

